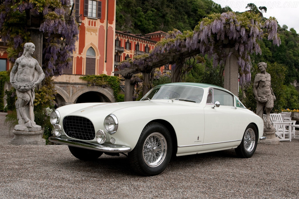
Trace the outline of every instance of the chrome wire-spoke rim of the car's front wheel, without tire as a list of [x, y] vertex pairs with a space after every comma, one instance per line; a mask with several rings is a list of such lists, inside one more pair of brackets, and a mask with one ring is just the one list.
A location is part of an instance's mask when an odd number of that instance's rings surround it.
[[167, 142], [161, 133], [150, 134], [143, 144], [143, 160], [150, 167], [159, 166], [167, 154]]

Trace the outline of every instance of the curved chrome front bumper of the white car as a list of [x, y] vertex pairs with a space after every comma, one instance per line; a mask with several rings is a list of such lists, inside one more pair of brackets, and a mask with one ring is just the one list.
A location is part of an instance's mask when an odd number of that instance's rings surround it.
[[95, 151], [109, 152], [109, 153], [124, 153], [131, 151], [129, 146], [119, 146], [119, 145], [109, 145], [109, 144], [92, 144], [89, 142], [71, 140], [71, 139], [62, 139], [55, 136], [51, 136], [49, 141], [64, 144], [68, 146], [79, 147], [83, 149], [91, 149]]

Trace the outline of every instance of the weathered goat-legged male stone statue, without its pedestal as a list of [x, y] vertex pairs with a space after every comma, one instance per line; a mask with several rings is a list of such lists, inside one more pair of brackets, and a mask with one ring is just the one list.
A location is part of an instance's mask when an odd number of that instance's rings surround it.
[[271, 88], [271, 75], [266, 72], [267, 63], [260, 62], [257, 66], [260, 72], [255, 75], [253, 83], [253, 93], [257, 100], [256, 114], [263, 118], [263, 111], [266, 110], [267, 122], [265, 127], [271, 128], [270, 111], [274, 106], [274, 100], [276, 100], [276, 97]]

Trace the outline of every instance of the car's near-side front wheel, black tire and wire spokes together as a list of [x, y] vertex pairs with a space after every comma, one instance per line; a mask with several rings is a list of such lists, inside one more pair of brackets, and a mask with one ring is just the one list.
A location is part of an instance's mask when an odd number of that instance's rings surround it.
[[160, 123], [152, 122], [144, 127], [135, 148], [128, 156], [136, 172], [153, 176], [164, 171], [170, 161], [172, 149], [168, 129]]

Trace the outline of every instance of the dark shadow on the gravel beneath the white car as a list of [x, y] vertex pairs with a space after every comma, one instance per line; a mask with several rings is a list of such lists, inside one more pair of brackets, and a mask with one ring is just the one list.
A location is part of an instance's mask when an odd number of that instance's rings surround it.
[[[200, 165], [207, 166], [208, 164], [213, 164], [219, 161], [234, 161], [236, 158], [238, 157], [235, 154], [234, 149], [196, 155], [179, 156], [173, 157], [167, 168], [171, 168], [171, 170], [177, 171], [183, 167]], [[50, 162], [50, 164], [52, 163]], [[59, 164], [60, 168], [64, 171], [72, 171], [78, 173], [104, 173], [104, 175], [113, 173], [113, 175], [116, 176], [123, 176], [124, 174], [130, 176], [139, 176], [131, 168], [129, 158], [127, 158], [123, 154], [120, 154], [120, 156], [109, 156], [103, 154], [95, 161], [81, 161], [72, 157], [70, 154], [70, 158], [61, 158], [57, 161], [54, 161], [53, 165], [49, 166], [57, 166], [57, 164]], [[186, 172], [187, 171], [188, 169], [186, 169]]]

